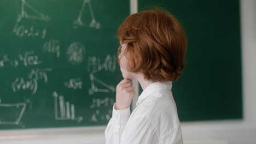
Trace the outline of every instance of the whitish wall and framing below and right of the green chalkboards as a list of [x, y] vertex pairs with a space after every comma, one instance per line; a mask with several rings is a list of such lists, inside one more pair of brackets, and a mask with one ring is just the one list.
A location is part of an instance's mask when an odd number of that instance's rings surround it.
[[[131, 0], [136, 2], [137, 0]], [[136, 11], [137, 4], [132, 4]], [[256, 143], [256, 1], [241, 0], [243, 121], [182, 123], [184, 143]], [[0, 130], [0, 143], [104, 143], [106, 127]]]

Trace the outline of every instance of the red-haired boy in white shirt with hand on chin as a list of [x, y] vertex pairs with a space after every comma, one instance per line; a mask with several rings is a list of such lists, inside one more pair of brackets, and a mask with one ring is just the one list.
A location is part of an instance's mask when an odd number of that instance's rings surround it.
[[[113, 115], [105, 130], [107, 144], [183, 143], [173, 100], [172, 81], [184, 69], [187, 38], [167, 11], [146, 10], [130, 15], [118, 29], [118, 62], [124, 77], [117, 85]], [[137, 79], [143, 92], [130, 116]]]

